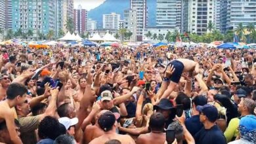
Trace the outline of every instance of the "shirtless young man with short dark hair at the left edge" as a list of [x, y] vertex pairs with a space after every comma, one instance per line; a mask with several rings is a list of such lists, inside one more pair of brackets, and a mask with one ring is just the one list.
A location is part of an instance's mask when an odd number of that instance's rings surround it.
[[7, 89], [7, 99], [0, 102], [0, 123], [5, 120], [12, 143], [22, 143], [16, 132], [12, 107], [24, 103], [28, 90], [23, 84], [12, 83]]

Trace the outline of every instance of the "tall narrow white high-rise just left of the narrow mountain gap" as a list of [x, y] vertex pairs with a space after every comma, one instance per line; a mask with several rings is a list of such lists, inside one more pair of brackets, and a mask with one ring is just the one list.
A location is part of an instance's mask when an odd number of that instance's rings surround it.
[[146, 0], [130, 0], [130, 9], [136, 10], [137, 14], [137, 41], [142, 41], [143, 29], [147, 26]]

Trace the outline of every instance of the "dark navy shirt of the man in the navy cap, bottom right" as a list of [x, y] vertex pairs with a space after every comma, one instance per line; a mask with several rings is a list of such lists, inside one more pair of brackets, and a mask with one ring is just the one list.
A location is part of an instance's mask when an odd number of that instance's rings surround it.
[[202, 128], [194, 139], [196, 144], [226, 144], [226, 138], [217, 125], [210, 129]]

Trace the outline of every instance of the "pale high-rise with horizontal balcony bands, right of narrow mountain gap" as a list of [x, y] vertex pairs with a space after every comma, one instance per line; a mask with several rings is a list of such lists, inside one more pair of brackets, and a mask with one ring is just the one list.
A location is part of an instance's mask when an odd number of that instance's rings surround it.
[[181, 0], [156, 1], [156, 27], [181, 29]]

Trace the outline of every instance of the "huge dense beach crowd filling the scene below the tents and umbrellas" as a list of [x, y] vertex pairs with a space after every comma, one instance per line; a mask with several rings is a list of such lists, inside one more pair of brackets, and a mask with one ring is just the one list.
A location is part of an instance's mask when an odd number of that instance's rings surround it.
[[0, 52], [0, 143], [256, 143], [254, 49]]

